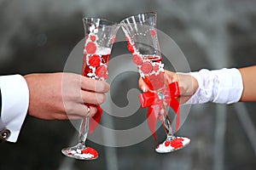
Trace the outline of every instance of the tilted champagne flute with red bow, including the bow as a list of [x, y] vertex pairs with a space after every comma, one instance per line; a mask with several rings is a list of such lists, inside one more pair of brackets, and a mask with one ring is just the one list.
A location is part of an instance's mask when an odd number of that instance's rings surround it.
[[[160, 53], [160, 46], [156, 31], [156, 14], [144, 13], [126, 18], [120, 22], [125, 32], [127, 48], [132, 54], [133, 63], [142, 77], [148, 90], [139, 95], [143, 108], [148, 107], [147, 121], [150, 131], [155, 135], [155, 124], [160, 117], [166, 131], [166, 140], [158, 144], [155, 150], [159, 153], [168, 153], [179, 150], [189, 144], [190, 139], [176, 137], [173, 133], [179, 127], [179, 88], [177, 82], [166, 84], [164, 64]], [[166, 109], [172, 108], [176, 118], [175, 130]], [[158, 142], [157, 142], [158, 143]]]

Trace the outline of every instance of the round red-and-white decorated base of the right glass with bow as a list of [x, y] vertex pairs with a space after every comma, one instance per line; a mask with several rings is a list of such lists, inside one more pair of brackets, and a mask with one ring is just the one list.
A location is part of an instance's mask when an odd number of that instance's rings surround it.
[[187, 146], [190, 142], [189, 138], [185, 137], [176, 137], [176, 138], [167, 138], [162, 144], [159, 144], [155, 151], [161, 154], [169, 153], [175, 150], [180, 150], [183, 147]]

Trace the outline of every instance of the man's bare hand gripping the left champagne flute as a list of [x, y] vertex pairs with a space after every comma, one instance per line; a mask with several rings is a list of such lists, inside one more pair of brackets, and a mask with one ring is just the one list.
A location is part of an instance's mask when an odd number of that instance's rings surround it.
[[29, 88], [28, 115], [44, 120], [80, 119], [94, 116], [96, 107], [109, 90], [107, 82], [73, 73], [30, 74], [25, 76]]

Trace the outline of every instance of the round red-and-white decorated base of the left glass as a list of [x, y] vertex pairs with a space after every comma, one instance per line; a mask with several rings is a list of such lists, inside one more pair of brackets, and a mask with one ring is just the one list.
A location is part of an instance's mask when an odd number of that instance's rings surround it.
[[62, 154], [79, 160], [95, 160], [98, 157], [96, 150], [86, 147], [84, 144], [77, 144], [73, 147], [64, 148]]

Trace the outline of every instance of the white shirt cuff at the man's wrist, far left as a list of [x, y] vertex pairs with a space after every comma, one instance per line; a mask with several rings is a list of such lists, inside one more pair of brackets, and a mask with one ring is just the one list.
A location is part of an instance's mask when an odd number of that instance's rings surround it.
[[1, 122], [10, 130], [7, 141], [16, 142], [25, 120], [29, 104], [29, 90], [24, 77], [20, 75], [1, 76], [2, 94]]

